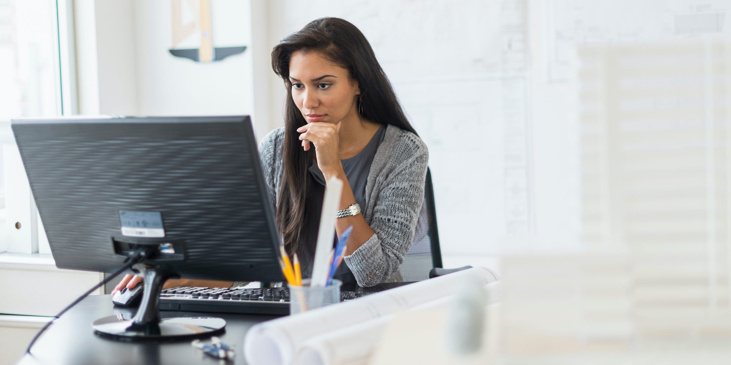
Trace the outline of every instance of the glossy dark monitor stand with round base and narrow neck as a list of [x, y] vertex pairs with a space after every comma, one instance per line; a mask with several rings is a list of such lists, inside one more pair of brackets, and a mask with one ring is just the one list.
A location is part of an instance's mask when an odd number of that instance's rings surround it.
[[92, 324], [94, 333], [121, 341], [171, 341], [208, 337], [224, 331], [222, 318], [177, 317], [160, 319], [160, 291], [171, 275], [161, 265], [133, 266], [145, 278], [140, 308], [135, 318], [123, 320], [117, 315], [99, 318]]

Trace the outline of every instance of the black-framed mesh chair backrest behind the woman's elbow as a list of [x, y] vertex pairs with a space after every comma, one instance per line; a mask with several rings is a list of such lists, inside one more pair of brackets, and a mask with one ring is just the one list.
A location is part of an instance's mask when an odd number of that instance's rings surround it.
[[442, 267], [442, 251], [439, 249], [439, 230], [436, 228], [431, 171], [426, 169], [424, 204], [416, 224], [414, 241], [404, 255], [400, 269], [404, 281], [418, 281], [428, 279], [429, 271], [434, 267]]

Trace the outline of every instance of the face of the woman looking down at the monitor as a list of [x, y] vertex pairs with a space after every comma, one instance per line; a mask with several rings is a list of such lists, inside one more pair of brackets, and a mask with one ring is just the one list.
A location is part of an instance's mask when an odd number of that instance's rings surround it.
[[295, 52], [289, 60], [292, 100], [307, 123], [339, 123], [357, 118], [357, 81], [348, 70], [332, 64], [317, 52]]

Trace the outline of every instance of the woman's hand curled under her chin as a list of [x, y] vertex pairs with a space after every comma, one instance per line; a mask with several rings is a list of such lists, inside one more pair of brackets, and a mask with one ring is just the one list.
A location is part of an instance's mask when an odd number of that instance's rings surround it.
[[297, 128], [300, 134], [300, 141], [304, 150], [310, 149], [310, 142], [315, 146], [317, 155], [317, 166], [322, 174], [328, 175], [338, 173], [342, 169], [340, 163], [340, 123], [313, 122]]

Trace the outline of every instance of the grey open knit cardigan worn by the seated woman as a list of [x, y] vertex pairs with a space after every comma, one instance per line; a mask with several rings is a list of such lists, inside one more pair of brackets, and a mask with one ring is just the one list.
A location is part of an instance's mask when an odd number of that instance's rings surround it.
[[[284, 127], [270, 131], [259, 145], [264, 180], [274, 207], [279, 201], [283, 146]], [[429, 152], [417, 135], [387, 126], [368, 174], [366, 207], [361, 207], [374, 234], [344, 258], [358, 285], [404, 280], [398, 267], [414, 239], [428, 161]]]

